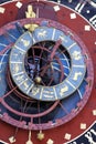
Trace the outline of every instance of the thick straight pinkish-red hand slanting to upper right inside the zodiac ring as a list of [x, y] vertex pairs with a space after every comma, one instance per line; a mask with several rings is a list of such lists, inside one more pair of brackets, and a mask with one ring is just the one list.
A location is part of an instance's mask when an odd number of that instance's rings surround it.
[[41, 76], [43, 76], [44, 73], [46, 72], [46, 70], [49, 69], [50, 62], [52, 62], [52, 60], [53, 60], [53, 58], [55, 55], [55, 52], [58, 49], [58, 47], [61, 45], [61, 43], [62, 43], [62, 40], [56, 41], [55, 45], [53, 47], [53, 51], [52, 51], [52, 53], [51, 53], [51, 55], [50, 55], [50, 58], [47, 60], [47, 64], [44, 66], [43, 71], [41, 72]]

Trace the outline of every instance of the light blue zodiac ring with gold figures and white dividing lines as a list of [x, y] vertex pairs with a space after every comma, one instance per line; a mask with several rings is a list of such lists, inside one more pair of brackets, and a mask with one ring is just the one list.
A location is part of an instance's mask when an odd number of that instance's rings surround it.
[[[55, 24], [53, 24], [53, 27], [54, 25]], [[34, 41], [32, 41], [32, 39]], [[65, 39], [65, 40], [62, 41], [62, 39]], [[73, 39], [75, 39], [75, 35], [73, 37]], [[43, 48], [43, 47], [39, 48], [39, 42], [42, 42], [42, 44], [43, 43], [45, 44], [47, 41], [49, 41], [47, 47], [50, 48]], [[52, 47], [50, 44], [51, 43], [50, 41], [55, 42], [55, 44], [52, 43], [53, 44]], [[79, 41], [77, 42], [81, 43]], [[74, 93], [78, 89], [86, 73], [86, 63], [85, 63], [86, 60], [84, 60], [84, 55], [82, 55], [83, 53], [81, 50], [82, 48], [78, 45], [78, 43], [72, 40], [70, 35], [65, 35], [63, 31], [55, 29], [55, 27], [54, 28], [39, 27], [38, 29], [33, 31], [33, 33], [25, 32], [23, 35], [20, 37], [20, 39], [17, 41], [17, 43], [11, 50], [10, 71], [11, 71], [13, 81], [23, 93], [38, 100], [42, 99], [43, 101], [55, 101], [55, 100], [61, 100], [63, 97], [70, 96], [72, 93]], [[31, 48], [31, 45], [34, 45], [34, 47]], [[31, 79], [26, 74], [25, 68], [23, 64], [25, 54], [30, 48], [33, 49], [31, 50], [32, 58], [29, 52], [30, 58], [28, 59], [30, 59], [30, 61], [32, 61], [33, 63], [33, 64], [30, 63], [30, 69], [31, 68], [34, 69], [32, 72], [31, 71], [28, 72], [31, 75]], [[42, 50], [42, 56], [41, 56], [42, 60], [40, 60], [39, 58], [40, 55], [36, 54], [39, 53], [38, 52], [39, 50], [40, 51]], [[63, 51], [65, 51], [66, 53], [64, 54]], [[68, 54], [68, 58], [66, 59], [67, 59], [67, 62], [70, 61], [68, 62], [70, 74], [66, 76], [67, 79], [64, 80], [63, 79], [64, 76], [63, 61], [64, 60], [62, 59], [64, 59], [67, 54]], [[17, 60], [17, 58], [19, 59]], [[79, 62], [79, 65], [77, 65], [77, 62]], [[57, 70], [55, 71], [53, 63], [55, 63], [56, 69], [61, 71], [61, 75], [60, 73], [57, 74], [58, 75], [57, 79], [61, 79], [60, 81], [54, 80], [54, 76], [57, 73]], [[35, 70], [36, 68], [38, 70]], [[51, 79], [49, 78], [49, 75], [51, 75], [51, 71], [53, 71], [53, 78], [52, 78], [52, 81], [50, 82], [45, 79], [45, 76], [47, 76], [47, 79]], [[35, 84], [36, 76], [40, 76], [42, 79], [40, 84], [38, 83]], [[43, 82], [43, 79], [45, 79], [45, 82]], [[56, 83], [55, 81], [58, 81], [58, 82]]]

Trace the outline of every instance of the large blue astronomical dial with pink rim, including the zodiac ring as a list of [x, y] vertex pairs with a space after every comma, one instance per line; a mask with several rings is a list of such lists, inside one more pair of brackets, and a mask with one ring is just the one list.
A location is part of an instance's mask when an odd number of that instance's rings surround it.
[[[28, 19], [18, 22], [28, 24]], [[89, 85], [94, 78], [93, 64], [82, 40], [75, 33], [71, 37], [68, 28], [38, 18], [32, 23], [39, 28], [23, 32], [13, 47], [1, 51], [1, 61], [6, 61], [1, 72], [4, 78], [1, 80], [1, 114], [7, 114], [4, 121], [18, 127], [30, 125], [31, 130], [43, 130], [71, 121], [84, 107], [93, 86]], [[15, 123], [8, 121], [8, 116]], [[62, 122], [57, 123], [58, 120]]]

